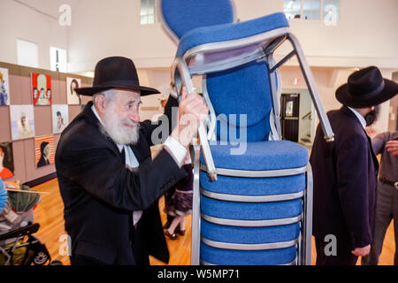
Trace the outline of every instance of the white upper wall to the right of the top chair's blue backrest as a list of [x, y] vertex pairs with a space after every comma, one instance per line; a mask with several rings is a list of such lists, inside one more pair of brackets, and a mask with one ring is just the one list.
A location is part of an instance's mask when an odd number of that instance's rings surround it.
[[[235, 0], [238, 18], [255, 19], [282, 11], [283, 1]], [[340, 0], [336, 27], [321, 21], [289, 20], [310, 65], [398, 68], [398, 1]], [[277, 54], [279, 54], [277, 52]]]

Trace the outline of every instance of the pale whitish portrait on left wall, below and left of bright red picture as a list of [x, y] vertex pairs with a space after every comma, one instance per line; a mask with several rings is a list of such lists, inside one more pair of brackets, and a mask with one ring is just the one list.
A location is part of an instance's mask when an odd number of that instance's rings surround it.
[[34, 137], [33, 105], [11, 105], [10, 117], [12, 141]]

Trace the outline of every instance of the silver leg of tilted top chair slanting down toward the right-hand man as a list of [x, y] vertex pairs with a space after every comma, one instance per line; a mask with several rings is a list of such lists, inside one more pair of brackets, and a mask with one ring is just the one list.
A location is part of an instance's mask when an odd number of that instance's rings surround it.
[[318, 112], [320, 125], [322, 126], [322, 129], [324, 131], [326, 142], [333, 142], [334, 134], [332, 126], [330, 126], [329, 119], [326, 116], [324, 106], [320, 102], [318, 88], [317, 85], [315, 84], [315, 80], [310, 71], [310, 66], [307, 64], [307, 60], [305, 59], [302, 47], [300, 43], [297, 41], [295, 35], [293, 34], [287, 34], [287, 40], [292, 43], [293, 48], [295, 50], [295, 54], [297, 55], [300, 67], [302, 69], [302, 74], [304, 75], [304, 79], [307, 82], [307, 86], [310, 91], [312, 102], [314, 103], [315, 109]]

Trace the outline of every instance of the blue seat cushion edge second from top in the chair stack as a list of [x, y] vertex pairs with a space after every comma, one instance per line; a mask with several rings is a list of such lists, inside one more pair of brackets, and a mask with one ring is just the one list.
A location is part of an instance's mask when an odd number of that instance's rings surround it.
[[200, 172], [201, 186], [213, 193], [227, 195], [281, 195], [297, 193], [306, 187], [304, 174], [276, 178], [238, 178], [218, 175], [217, 182]]

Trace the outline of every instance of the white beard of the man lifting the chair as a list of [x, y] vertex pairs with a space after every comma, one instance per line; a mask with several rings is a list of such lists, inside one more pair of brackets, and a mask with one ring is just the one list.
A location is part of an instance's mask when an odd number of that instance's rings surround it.
[[[126, 128], [123, 124], [134, 126], [134, 128]], [[108, 110], [105, 111], [101, 129], [103, 134], [109, 136], [113, 142], [119, 144], [135, 144], [140, 137], [140, 124], [134, 123], [131, 120], [120, 120], [112, 106], [108, 107]]]

